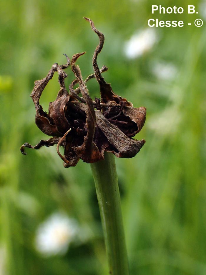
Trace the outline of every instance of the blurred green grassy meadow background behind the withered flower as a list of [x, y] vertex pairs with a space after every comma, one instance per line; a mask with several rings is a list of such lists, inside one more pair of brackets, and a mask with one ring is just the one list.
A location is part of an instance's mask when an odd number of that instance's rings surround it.
[[[152, 4], [182, 6], [185, 12], [151, 14]], [[188, 15], [187, 4], [199, 14]], [[205, 19], [205, 6], [195, 0], [1, 1], [0, 274], [108, 272], [89, 164], [80, 160], [65, 169], [53, 147], [27, 149], [27, 156], [19, 151], [24, 142], [48, 139], [34, 122], [34, 80], [45, 77], [54, 62], [65, 63], [63, 53], [86, 51], [78, 64], [84, 78], [92, 73], [98, 38], [83, 16], [105, 35], [98, 64], [109, 67], [104, 77], [114, 92], [147, 107], [136, 136], [146, 144], [132, 159], [116, 158], [131, 275], [206, 274], [206, 35], [204, 25], [187, 26]], [[185, 26], [150, 29], [149, 18], [183, 20]], [[142, 52], [129, 58], [127, 42], [147, 29], [153, 45], [141, 38]], [[70, 68], [66, 72], [68, 86], [74, 75]], [[88, 88], [92, 98], [99, 95], [95, 80]], [[58, 90], [54, 75], [41, 97], [44, 110]], [[75, 220], [80, 233], [67, 252], [48, 256], [35, 240], [53, 213]]]

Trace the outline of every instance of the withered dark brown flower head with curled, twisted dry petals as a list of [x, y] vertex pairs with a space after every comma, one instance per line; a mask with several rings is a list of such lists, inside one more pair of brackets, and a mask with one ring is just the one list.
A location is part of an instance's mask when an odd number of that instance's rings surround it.
[[[79, 159], [92, 163], [104, 159], [104, 151], [112, 152], [117, 157], [134, 157], [145, 143], [145, 140], [132, 139], [143, 127], [146, 108], [134, 108], [132, 103], [116, 95], [109, 83], [102, 77], [107, 70], [101, 70], [97, 65], [97, 56], [104, 45], [104, 35], [99, 32], [91, 19], [94, 32], [99, 37], [99, 45], [94, 51], [92, 64], [94, 74], [83, 81], [77, 59], [85, 52], [73, 55], [70, 62], [67, 57], [65, 65], [54, 63], [48, 75], [35, 81], [31, 98], [36, 108], [35, 122], [46, 135], [52, 136], [48, 140], [41, 140], [35, 146], [25, 143], [21, 146], [22, 154], [25, 147], [39, 149], [41, 146], [57, 144], [57, 153], [64, 160], [64, 167], [75, 166]], [[76, 79], [69, 85], [69, 92], [65, 88], [64, 79], [67, 74], [63, 69], [71, 66]], [[60, 90], [54, 102], [49, 103], [49, 112], [43, 111], [39, 104], [41, 94], [47, 83], [58, 72]], [[92, 101], [86, 83], [96, 78], [100, 88], [100, 98]], [[74, 85], [79, 87], [74, 89]], [[80, 96], [79, 94], [82, 94]], [[96, 110], [95, 110], [96, 109]], [[59, 146], [64, 147], [64, 156], [59, 152]]]

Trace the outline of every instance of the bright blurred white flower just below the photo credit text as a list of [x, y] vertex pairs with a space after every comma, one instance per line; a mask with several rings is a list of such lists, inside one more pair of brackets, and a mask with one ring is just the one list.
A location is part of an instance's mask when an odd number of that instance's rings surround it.
[[124, 52], [128, 58], [136, 58], [152, 49], [158, 41], [155, 29], [147, 28], [134, 34], [125, 43]]

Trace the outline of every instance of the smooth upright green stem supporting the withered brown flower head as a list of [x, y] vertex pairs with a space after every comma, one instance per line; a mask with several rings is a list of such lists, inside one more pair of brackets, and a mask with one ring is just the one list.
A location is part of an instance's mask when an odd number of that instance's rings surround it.
[[114, 155], [105, 153], [104, 160], [91, 164], [104, 231], [109, 274], [128, 275], [122, 210]]

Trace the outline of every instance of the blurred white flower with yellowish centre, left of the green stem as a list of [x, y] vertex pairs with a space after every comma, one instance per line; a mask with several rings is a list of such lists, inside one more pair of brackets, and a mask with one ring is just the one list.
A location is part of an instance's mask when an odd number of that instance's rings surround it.
[[74, 219], [62, 213], [54, 213], [39, 225], [36, 231], [36, 250], [44, 256], [63, 255], [69, 243], [77, 234], [78, 227]]

